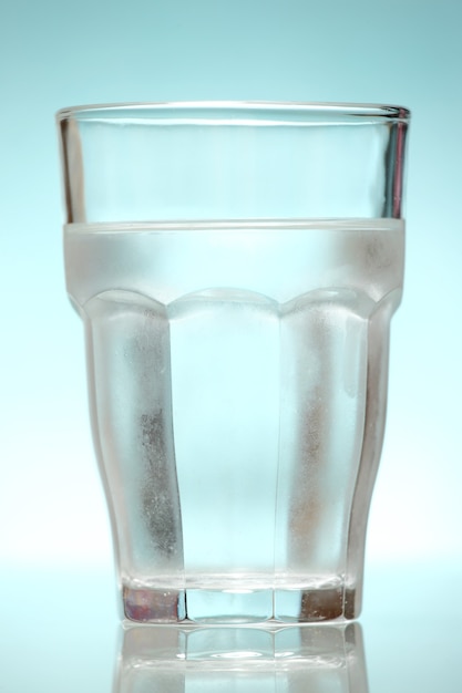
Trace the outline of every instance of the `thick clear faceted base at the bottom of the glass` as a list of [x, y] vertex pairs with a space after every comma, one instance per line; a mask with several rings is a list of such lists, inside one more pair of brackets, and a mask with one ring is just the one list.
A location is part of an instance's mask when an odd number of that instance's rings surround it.
[[124, 587], [124, 616], [138, 623], [314, 623], [353, 619], [355, 590], [134, 589]]

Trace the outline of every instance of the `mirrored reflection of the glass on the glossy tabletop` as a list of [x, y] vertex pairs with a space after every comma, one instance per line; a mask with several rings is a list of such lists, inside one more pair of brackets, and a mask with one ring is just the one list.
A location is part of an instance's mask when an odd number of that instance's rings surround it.
[[133, 627], [114, 693], [154, 691], [368, 693], [360, 625]]

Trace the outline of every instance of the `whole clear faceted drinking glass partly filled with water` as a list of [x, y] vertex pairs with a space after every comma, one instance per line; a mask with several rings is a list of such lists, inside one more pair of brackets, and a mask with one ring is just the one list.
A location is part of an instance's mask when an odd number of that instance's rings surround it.
[[158, 104], [58, 120], [124, 616], [356, 618], [409, 113]]

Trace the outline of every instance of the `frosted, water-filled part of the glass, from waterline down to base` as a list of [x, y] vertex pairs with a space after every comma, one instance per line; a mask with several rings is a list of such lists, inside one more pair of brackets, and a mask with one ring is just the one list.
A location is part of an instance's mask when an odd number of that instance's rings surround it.
[[126, 617], [360, 610], [401, 220], [69, 225]]

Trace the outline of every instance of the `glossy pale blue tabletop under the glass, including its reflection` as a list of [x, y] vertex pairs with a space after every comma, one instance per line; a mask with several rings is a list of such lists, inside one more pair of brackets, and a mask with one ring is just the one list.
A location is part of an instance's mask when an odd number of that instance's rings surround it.
[[0, 691], [461, 693], [460, 568], [368, 572], [358, 622], [140, 627], [110, 569], [3, 567]]

